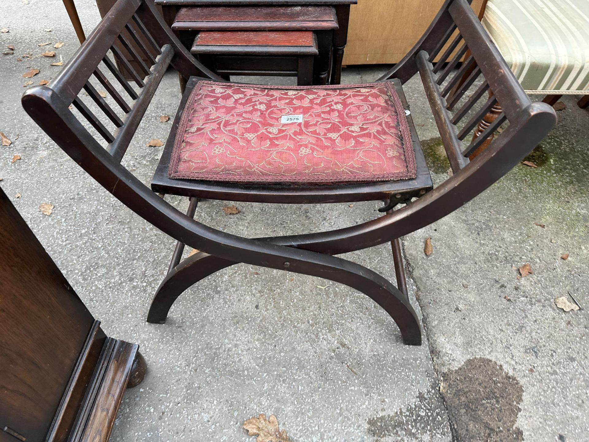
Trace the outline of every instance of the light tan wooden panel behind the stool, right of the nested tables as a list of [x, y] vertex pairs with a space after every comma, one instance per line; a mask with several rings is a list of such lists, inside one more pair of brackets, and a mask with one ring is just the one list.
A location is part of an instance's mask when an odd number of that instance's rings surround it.
[[[477, 13], [482, 2], [472, 1], [472, 8]], [[360, 0], [350, 11], [343, 64], [400, 61], [423, 35], [442, 4], [444, 0]]]

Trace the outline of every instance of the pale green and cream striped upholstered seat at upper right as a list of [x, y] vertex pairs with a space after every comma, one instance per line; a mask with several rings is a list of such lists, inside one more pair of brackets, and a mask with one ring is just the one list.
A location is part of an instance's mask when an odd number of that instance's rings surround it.
[[482, 24], [526, 92], [589, 94], [589, 0], [489, 0]]

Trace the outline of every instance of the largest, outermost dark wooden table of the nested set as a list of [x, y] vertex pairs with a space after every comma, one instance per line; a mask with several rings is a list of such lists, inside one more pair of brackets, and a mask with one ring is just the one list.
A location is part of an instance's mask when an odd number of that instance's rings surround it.
[[[333, 32], [333, 60], [331, 84], [339, 84], [342, 78], [343, 52], [348, 42], [348, 22], [350, 5], [358, 0], [155, 0], [161, 6], [164, 19], [168, 25], [174, 23], [174, 18], [183, 6], [223, 6], [223, 5], [332, 5], [335, 7], [339, 28]], [[190, 47], [187, 47], [190, 50]]]

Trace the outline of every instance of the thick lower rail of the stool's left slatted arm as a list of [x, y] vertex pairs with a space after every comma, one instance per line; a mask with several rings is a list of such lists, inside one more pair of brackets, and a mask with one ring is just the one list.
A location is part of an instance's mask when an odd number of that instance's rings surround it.
[[110, 142], [110, 154], [116, 161], [123, 159], [131, 138], [133, 138], [137, 127], [141, 123], [141, 118], [143, 118], [173, 56], [174, 50], [170, 45], [166, 44], [161, 48], [161, 54], [158, 55], [155, 64], [151, 67], [151, 75], [147, 77], [141, 95], [135, 100], [131, 112], [127, 114], [123, 127], [115, 132], [115, 138]]

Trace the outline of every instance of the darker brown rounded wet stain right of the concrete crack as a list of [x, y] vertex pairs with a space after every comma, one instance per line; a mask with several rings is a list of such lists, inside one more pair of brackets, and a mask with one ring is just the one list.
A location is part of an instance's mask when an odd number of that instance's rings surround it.
[[515, 426], [524, 389], [501, 365], [473, 358], [442, 377], [440, 391], [446, 401], [454, 440], [521, 442]]

